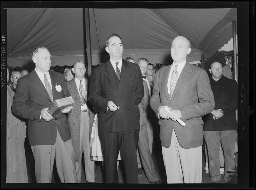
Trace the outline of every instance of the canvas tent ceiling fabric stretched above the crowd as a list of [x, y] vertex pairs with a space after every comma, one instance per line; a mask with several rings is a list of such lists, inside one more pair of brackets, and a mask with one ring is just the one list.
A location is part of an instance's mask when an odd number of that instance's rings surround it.
[[[89, 9], [92, 65], [107, 58], [105, 40], [116, 33], [124, 44], [123, 58], [145, 57], [150, 63], [170, 59], [174, 37], [191, 42], [188, 61], [209, 57], [232, 37], [236, 9]], [[7, 9], [7, 62], [31, 62], [34, 47], [43, 45], [52, 66], [86, 60], [83, 9]]]

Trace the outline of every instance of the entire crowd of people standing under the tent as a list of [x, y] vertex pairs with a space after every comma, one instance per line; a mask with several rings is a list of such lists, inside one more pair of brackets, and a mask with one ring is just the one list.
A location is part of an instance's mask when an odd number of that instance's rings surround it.
[[[28, 183], [26, 131], [37, 183], [51, 183], [54, 160], [61, 183], [81, 183], [82, 164], [86, 183], [96, 183], [95, 161], [102, 162], [105, 183], [118, 183], [123, 160], [127, 183], [138, 183], [143, 168], [149, 183], [161, 184], [151, 156], [154, 131], [167, 183], [202, 182], [203, 139], [211, 183], [220, 181], [221, 147], [224, 180], [233, 183], [228, 171], [236, 169], [234, 54], [228, 52], [229, 64], [223, 68], [218, 60], [213, 62], [208, 76], [187, 62], [191, 47], [184, 36], [173, 39], [173, 63], [161, 68], [146, 58], [123, 59], [117, 34], [106, 39], [105, 50], [110, 59], [92, 70], [90, 80], [82, 60], [63, 75], [51, 71], [51, 54], [44, 46], [32, 52], [32, 72], [12, 71], [12, 85], [7, 86], [6, 183]], [[56, 99], [69, 96], [74, 103], [59, 117], [47, 111]]]

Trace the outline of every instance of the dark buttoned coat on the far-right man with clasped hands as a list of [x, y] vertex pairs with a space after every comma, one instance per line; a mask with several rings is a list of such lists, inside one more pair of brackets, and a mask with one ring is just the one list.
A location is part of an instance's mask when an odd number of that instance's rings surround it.
[[211, 113], [203, 116], [204, 131], [237, 130], [237, 83], [224, 75], [218, 81], [210, 77], [211, 88], [214, 96], [214, 109], [222, 109], [224, 115], [213, 120]]

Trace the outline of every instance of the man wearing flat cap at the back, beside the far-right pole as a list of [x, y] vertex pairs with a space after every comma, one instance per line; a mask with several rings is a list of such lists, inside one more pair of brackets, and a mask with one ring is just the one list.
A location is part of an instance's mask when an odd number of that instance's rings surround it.
[[228, 64], [225, 67], [223, 67], [222, 75], [226, 76], [229, 79], [235, 80], [234, 51], [228, 51], [227, 56], [225, 58], [228, 59]]

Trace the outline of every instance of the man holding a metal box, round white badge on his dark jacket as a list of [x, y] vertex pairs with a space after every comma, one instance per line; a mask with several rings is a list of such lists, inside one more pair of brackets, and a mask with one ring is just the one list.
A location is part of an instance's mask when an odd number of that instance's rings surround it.
[[49, 71], [51, 54], [44, 46], [32, 52], [36, 68], [18, 80], [12, 104], [14, 114], [28, 119], [28, 140], [35, 158], [37, 183], [50, 183], [54, 158], [62, 183], [77, 183], [75, 152], [68, 126], [67, 113], [62, 110], [56, 119], [47, 111], [56, 99], [70, 96], [62, 74]]

